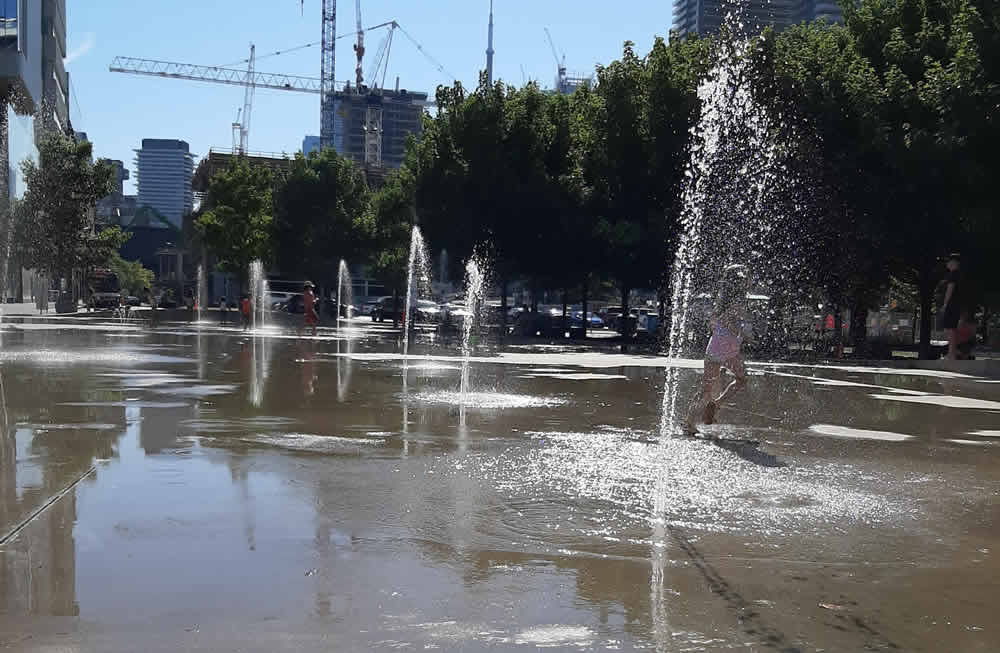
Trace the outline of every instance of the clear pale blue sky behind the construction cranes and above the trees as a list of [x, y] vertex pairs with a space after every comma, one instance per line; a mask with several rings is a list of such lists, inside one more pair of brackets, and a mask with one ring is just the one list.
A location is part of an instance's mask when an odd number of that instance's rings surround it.
[[[300, 6], [304, 4], [304, 13]], [[555, 61], [545, 39], [548, 27], [566, 55], [567, 68], [586, 72], [621, 54], [625, 40], [640, 53], [670, 27], [669, 0], [496, 0], [495, 76], [520, 85], [529, 79], [551, 87]], [[143, 138], [181, 138], [197, 156], [211, 147], [231, 147], [232, 122], [243, 105], [243, 89], [201, 82], [154, 79], [108, 72], [116, 55], [222, 65], [320, 38], [320, 0], [69, 0], [67, 2], [71, 116], [86, 131], [97, 156], [124, 160]], [[362, 0], [367, 26], [397, 20], [466, 86], [485, 67], [489, 0]], [[355, 3], [337, 3], [337, 33], [354, 29]], [[385, 31], [366, 36], [370, 59]], [[353, 77], [353, 39], [338, 41], [337, 79]], [[260, 59], [257, 69], [319, 77], [319, 49]], [[401, 34], [393, 39], [389, 80], [433, 93], [442, 75]], [[394, 83], [394, 81], [393, 81]], [[258, 90], [249, 147], [295, 152], [302, 137], [319, 133], [319, 96]], [[134, 170], [133, 170], [134, 174]], [[128, 192], [134, 192], [129, 183]]]

